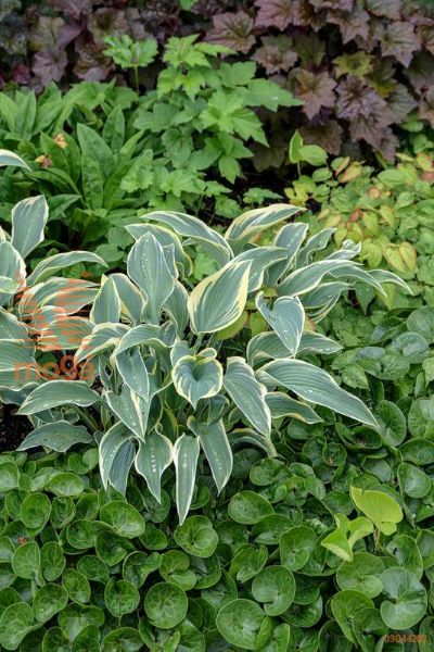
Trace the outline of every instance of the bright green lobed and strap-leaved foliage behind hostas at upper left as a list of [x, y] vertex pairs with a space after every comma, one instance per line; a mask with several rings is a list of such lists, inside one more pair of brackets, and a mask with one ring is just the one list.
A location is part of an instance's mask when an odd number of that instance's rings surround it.
[[[0, 93], [0, 145], [31, 167], [3, 177], [1, 206], [43, 192], [53, 246], [93, 249], [113, 265], [131, 243], [122, 227], [139, 209], [237, 216], [232, 184], [252, 143], [267, 146], [254, 109], [299, 102], [258, 78], [254, 62], [217, 62], [226, 48], [195, 41], [170, 39], [155, 89], [141, 96], [95, 83], [65, 95], [50, 85], [38, 99], [33, 91]], [[112, 38], [107, 51], [132, 66], [123, 42]], [[279, 197], [264, 188], [241, 195], [247, 205]]]

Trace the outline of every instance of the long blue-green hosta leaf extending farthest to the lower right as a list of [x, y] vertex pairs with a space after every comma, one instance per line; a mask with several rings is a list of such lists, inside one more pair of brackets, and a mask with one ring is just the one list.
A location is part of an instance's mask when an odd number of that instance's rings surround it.
[[323, 369], [302, 360], [276, 360], [257, 372], [259, 380], [293, 391], [305, 401], [324, 405], [371, 428], [379, 424], [360, 399], [345, 391]]

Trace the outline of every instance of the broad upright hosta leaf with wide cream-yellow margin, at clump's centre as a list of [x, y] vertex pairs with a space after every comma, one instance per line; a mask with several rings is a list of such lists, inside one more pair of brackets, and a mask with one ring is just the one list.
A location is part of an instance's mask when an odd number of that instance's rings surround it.
[[251, 263], [229, 263], [196, 285], [188, 301], [194, 333], [216, 333], [227, 328], [243, 312], [248, 289]]

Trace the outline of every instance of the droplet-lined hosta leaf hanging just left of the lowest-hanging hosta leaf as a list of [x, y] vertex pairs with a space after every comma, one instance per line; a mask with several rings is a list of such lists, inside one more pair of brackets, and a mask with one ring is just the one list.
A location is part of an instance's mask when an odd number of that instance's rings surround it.
[[136, 471], [146, 480], [152, 496], [162, 500], [162, 475], [171, 464], [174, 447], [171, 441], [157, 431], [151, 432], [145, 441], [141, 441], [136, 455]]

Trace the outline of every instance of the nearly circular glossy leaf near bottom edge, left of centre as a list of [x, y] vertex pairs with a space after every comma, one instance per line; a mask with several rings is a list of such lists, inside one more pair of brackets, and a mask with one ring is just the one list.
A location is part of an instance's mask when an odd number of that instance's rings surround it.
[[176, 585], [159, 582], [149, 589], [143, 606], [154, 627], [171, 629], [186, 617], [188, 599], [184, 591]]

